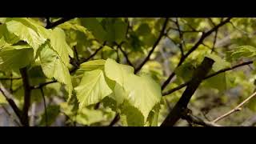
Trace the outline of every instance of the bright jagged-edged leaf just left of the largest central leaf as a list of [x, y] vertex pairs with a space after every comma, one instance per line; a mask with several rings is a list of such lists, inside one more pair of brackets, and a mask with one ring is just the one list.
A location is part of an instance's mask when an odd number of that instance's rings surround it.
[[100, 102], [112, 93], [102, 70], [85, 72], [79, 86], [75, 87], [74, 90], [77, 94], [80, 110], [84, 106]]

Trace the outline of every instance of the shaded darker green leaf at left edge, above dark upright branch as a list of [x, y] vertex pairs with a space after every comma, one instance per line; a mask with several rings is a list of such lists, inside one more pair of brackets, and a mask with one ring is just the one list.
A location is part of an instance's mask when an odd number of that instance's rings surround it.
[[0, 50], [0, 70], [18, 70], [33, 60], [30, 46], [8, 46]]

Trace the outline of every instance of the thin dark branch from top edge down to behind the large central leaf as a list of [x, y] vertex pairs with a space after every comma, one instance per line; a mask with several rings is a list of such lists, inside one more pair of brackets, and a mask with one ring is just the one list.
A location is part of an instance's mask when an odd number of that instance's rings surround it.
[[158, 46], [158, 43], [160, 42], [160, 40], [162, 39], [162, 36], [165, 35], [165, 30], [166, 30], [166, 26], [167, 26], [167, 22], [168, 22], [168, 19], [169, 18], [166, 18], [165, 22], [163, 23], [163, 26], [162, 26], [162, 30], [158, 36], [158, 39], [156, 40], [156, 42], [154, 42], [154, 45], [152, 46], [152, 49], [150, 50], [149, 54], [146, 56], [146, 58], [142, 61], [142, 63], [134, 70], [134, 73], [138, 73], [139, 70], [142, 69], [142, 66], [145, 65], [145, 63], [150, 60], [150, 56], [151, 54], [153, 54], [154, 52], [154, 49]]

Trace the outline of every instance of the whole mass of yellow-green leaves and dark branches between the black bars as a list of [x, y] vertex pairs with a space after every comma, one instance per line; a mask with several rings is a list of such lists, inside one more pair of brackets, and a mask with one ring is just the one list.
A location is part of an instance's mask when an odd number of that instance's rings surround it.
[[256, 124], [255, 18], [0, 23], [8, 126]]

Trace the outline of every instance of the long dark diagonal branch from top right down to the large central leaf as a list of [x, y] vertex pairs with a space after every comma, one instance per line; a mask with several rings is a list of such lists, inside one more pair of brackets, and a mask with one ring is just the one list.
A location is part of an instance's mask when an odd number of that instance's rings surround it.
[[[180, 59], [180, 61], [178, 62], [178, 66], [181, 66], [182, 63], [186, 60], [186, 58], [194, 51], [198, 48], [198, 46], [200, 46], [202, 44], [202, 42], [204, 41], [204, 39], [206, 37], [208, 37], [210, 34], [212, 34], [215, 30], [218, 30], [219, 27], [225, 25], [227, 22], [230, 22], [231, 18], [226, 18], [225, 21], [220, 22], [217, 26], [214, 26], [214, 28], [212, 28], [211, 30], [207, 31], [206, 33], [203, 33], [201, 38], [198, 40], [198, 42], [196, 42], [194, 44], [194, 46]], [[175, 69], [177, 69], [177, 67]], [[175, 71], [174, 69], [174, 71]], [[175, 73], [170, 74], [170, 76], [166, 79], [165, 82], [162, 83], [162, 90], [164, 90], [166, 88], [166, 86], [169, 84], [169, 82], [171, 81], [172, 78], [174, 78]]]

